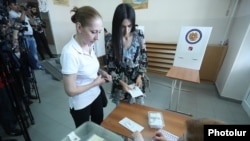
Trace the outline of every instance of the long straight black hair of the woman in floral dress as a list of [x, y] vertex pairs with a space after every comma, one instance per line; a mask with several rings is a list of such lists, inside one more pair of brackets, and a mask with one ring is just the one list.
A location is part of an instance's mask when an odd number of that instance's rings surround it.
[[115, 63], [120, 63], [123, 57], [123, 40], [122, 40], [122, 22], [124, 19], [131, 21], [132, 29], [131, 32], [135, 31], [135, 10], [130, 4], [122, 3], [119, 4], [113, 16], [112, 22], [112, 45], [113, 45], [113, 56], [115, 57]]

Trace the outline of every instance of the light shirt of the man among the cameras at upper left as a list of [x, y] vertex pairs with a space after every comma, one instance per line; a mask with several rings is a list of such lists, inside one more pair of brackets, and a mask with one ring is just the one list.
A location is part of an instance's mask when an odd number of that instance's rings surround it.
[[[14, 10], [10, 10], [9, 11], [9, 18], [11, 20], [12, 24], [15, 24], [15, 19], [20, 18], [21, 17], [21, 13], [20, 12], [16, 12]], [[24, 35], [33, 35], [33, 29], [30, 25], [29, 22], [29, 18], [27, 16], [25, 16], [25, 24], [23, 25], [24, 27], [27, 27], [27, 31], [24, 31]]]

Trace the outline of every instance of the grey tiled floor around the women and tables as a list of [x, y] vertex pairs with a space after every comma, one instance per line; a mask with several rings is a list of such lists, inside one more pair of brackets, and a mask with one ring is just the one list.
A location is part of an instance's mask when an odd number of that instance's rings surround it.
[[[42, 70], [36, 71], [35, 74], [41, 103], [37, 100], [30, 106], [35, 124], [28, 128], [29, 136], [32, 141], [59, 141], [74, 130], [63, 83], [54, 80], [50, 74]], [[169, 109], [172, 80], [150, 73], [148, 76], [150, 78], [150, 91], [147, 90], [145, 105]], [[110, 83], [105, 84], [104, 88], [108, 95]], [[173, 97], [172, 110], [175, 109], [176, 99], [177, 91]], [[105, 117], [114, 107], [115, 105], [109, 101], [108, 106], [104, 109]], [[178, 109], [192, 114], [195, 118], [211, 117], [229, 124], [250, 124], [250, 118], [241, 104], [221, 99], [215, 85], [209, 82], [201, 82], [200, 84], [183, 82]], [[5, 134], [2, 136], [10, 138]], [[24, 141], [23, 136], [16, 137], [16, 139]]]

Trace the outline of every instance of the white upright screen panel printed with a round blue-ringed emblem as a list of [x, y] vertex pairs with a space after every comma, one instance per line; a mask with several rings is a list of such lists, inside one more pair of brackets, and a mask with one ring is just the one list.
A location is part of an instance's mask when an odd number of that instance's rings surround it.
[[212, 27], [181, 28], [173, 66], [200, 70]]

